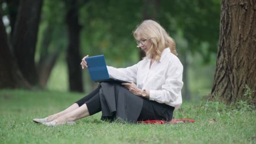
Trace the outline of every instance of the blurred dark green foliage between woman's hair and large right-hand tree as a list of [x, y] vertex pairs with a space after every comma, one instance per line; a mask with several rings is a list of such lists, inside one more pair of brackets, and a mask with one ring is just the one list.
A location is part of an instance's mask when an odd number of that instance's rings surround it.
[[[169, 2], [169, 3], [168, 3]], [[216, 53], [219, 40], [221, 0], [174, 0], [161, 3], [162, 17], [169, 20], [161, 23], [169, 32], [181, 35], [187, 47], [179, 50], [199, 52], [204, 62], [211, 61], [211, 53]]]

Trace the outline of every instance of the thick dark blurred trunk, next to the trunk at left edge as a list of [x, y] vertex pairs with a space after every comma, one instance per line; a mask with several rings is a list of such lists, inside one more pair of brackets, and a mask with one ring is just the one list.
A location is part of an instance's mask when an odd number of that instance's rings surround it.
[[14, 56], [22, 75], [32, 85], [38, 82], [35, 69], [35, 47], [42, 0], [21, 0], [13, 31]]

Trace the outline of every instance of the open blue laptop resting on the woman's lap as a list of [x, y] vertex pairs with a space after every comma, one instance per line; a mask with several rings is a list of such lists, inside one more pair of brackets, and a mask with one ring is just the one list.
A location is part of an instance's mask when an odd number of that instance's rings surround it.
[[85, 58], [87, 62], [88, 71], [91, 77], [91, 81], [95, 82], [115, 82], [115, 83], [130, 83], [124, 80], [118, 80], [109, 77], [109, 72], [107, 71], [107, 64], [104, 55], [90, 56]]

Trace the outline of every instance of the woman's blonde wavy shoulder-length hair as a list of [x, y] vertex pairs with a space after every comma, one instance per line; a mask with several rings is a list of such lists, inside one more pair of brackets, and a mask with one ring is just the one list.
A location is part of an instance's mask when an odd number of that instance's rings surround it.
[[146, 56], [155, 58], [159, 61], [161, 54], [165, 48], [170, 48], [171, 53], [178, 55], [175, 48], [175, 42], [163, 27], [153, 20], [145, 20], [139, 24], [133, 31], [133, 37], [138, 40], [138, 37], [143, 37], [150, 40], [151, 48], [147, 51]]

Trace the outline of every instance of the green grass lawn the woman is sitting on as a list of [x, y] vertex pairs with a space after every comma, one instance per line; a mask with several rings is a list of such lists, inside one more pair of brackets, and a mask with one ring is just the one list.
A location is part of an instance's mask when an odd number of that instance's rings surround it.
[[[59, 112], [81, 93], [0, 91], [0, 143], [256, 143], [256, 112], [230, 110], [219, 102], [184, 103], [174, 117], [195, 123], [143, 125], [107, 123], [101, 113], [77, 120], [76, 125], [46, 127], [36, 117]], [[211, 119], [216, 122], [211, 123]]]

